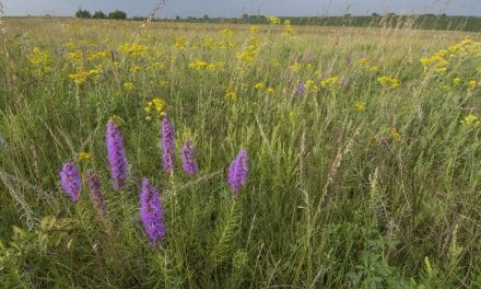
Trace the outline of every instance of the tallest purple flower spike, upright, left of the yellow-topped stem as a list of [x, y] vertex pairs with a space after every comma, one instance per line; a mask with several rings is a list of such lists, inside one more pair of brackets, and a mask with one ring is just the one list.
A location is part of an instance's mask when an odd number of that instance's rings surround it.
[[127, 180], [127, 159], [124, 152], [122, 135], [118, 129], [116, 120], [108, 120], [105, 139], [108, 164], [110, 165], [112, 178], [114, 178], [114, 189], [119, 190]]

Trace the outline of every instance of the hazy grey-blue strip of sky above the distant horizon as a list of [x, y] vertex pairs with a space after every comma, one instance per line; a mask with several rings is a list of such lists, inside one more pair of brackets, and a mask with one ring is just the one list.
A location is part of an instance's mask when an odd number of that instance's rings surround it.
[[[79, 7], [91, 12], [116, 9], [129, 16], [146, 15], [156, 0], [0, 0], [5, 15], [73, 15]], [[481, 16], [481, 0], [166, 0], [157, 13], [160, 18], [242, 16], [263, 15], [317, 15], [317, 14], [383, 14], [395, 12], [446, 13], [450, 15]]]

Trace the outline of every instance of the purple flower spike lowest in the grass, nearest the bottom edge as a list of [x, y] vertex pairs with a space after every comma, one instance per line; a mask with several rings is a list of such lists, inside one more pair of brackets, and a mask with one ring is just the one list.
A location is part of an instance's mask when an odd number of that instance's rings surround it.
[[152, 246], [155, 246], [160, 239], [165, 238], [166, 230], [161, 198], [146, 177], [142, 180], [140, 192], [140, 220]]

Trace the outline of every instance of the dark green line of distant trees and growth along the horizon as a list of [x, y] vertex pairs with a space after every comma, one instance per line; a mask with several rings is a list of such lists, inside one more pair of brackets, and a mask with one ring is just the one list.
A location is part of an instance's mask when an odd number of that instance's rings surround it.
[[[105, 14], [102, 11], [95, 11], [92, 15], [87, 10], [79, 9], [77, 18], [92, 19], [127, 19], [124, 11], [116, 10]], [[143, 16], [133, 16], [129, 20], [142, 21]], [[293, 25], [317, 25], [317, 26], [352, 26], [352, 27], [392, 27], [392, 28], [419, 28], [419, 30], [444, 30], [444, 31], [471, 31], [481, 32], [481, 18], [479, 16], [450, 16], [446, 14], [413, 14], [397, 15], [386, 13], [384, 15], [373, 13], [372, 15], [356, 16], [344, 14], [342, 16], [300, 16], [300, 18], [280, 18], [291, 20]], [[156, 19], [157, 21], [176, 22], [202, 22], [202, 23], [245, 23], [245, 24], [266, 24], [265, 15], [243, 14], [242, 18], [209, 18], [204, 14], [201, 18], [176, 16], [173, 19]]]

